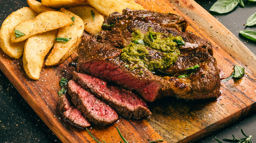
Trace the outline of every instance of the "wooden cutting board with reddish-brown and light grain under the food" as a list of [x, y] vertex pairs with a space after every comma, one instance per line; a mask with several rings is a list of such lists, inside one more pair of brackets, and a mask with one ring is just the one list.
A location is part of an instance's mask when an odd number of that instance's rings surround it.
[[[137, 0], [145, 9], [175, 13], [186, 18], [188, 30], [213, 45], [214, 57], [222, 77], [232, 73], [234, 65], [245, 67], [245, 77], [222, 83], [222, 99], [186, 101], [174, 97], [149, 103], [152, 116], [142, 120], [120, 118], [110, 126], [92, 126], [90, 132], [106, 142], [120, 142], [116, 126], [126, 140], [146, 143], [163, 139], [168, 143], [194, 142], [256, 111], [256, 56], [218, 20], [193, 0]], [[65, 121], [57, 109], [61, 77], [71, 79], [74, 67], [65, 62], [45, 67], [40, 80], [31, 80], [21, 59], [13, 59], [0, 50], [0, 69], [17, 88], [40, 118], [62, 142], [96, 143], [85, 129]], [[102, 141], [102, 140], [101, 140]]]

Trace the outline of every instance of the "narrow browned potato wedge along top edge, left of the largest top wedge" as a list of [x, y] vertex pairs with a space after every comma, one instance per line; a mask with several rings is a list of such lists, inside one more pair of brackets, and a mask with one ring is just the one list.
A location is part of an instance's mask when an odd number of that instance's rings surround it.
[[41, 0], [42, 4], [51, 8], [70, 8], [88, 5], [86, 0]]

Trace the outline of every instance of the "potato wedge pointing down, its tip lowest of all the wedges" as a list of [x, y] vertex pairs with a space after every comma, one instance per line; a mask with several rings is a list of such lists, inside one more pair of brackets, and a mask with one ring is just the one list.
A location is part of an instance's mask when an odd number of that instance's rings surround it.
[[23, 67], [27, 75], [34, 80], [40, 77], [44, 57], [53, 47], [58, 29], [30, 37], [24, 46]]

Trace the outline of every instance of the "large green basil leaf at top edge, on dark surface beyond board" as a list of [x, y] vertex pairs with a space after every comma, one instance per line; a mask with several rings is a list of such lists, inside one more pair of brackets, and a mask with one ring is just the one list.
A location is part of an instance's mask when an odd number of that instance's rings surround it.
[[239, 1], [240, 0], [218, 0], [212, 5], [210, 11], [227, 13], [232, 11], [238, 5]]

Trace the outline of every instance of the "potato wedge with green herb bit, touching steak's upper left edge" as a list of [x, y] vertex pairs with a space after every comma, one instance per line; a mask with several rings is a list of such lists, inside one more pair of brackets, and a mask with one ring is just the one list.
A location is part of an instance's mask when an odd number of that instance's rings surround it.
[[[101, 26], [104, 22], [104, 17], [95, 8], [92, 8], [90, 6], [78, 6], [69, 8], [68, 10], [81, 17], [84, 22], [85, 31], [89, 33], [94, 33], [102, 30]], [[94, 20], [91, 10], [94, 14]]]

